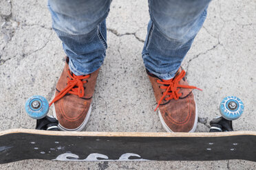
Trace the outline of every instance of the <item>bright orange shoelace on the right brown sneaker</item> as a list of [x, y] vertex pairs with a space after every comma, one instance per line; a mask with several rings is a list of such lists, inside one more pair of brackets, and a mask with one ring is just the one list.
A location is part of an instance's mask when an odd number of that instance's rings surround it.
[[180, 88], [194, 88], [194, 89], [198, 89], [198, 90], [202, 91], [202, 89], [197, 88], [195, 86], [186, 86], [186, 85], [179, 84], [180, 80], [185, 75], [186, 75], [186, 72], [184, 70], [182, 70], [179, 75], [175, 76], [171, 80], [162, 80], [162, 81], [157, 80], [157, 82], [159, 84], [164, 84], [164, 85], [168, 85], [168, 86], [160, 86], [160, 88], [167, 89], [167, 90], [165, 90], [165, 92], [162, 95], [161, 99], [158, 101], [158, 106], [156, 106], [155, 111], [158, 109], [158, 107], [160, 106], [160, 103], [162, 102], [162, 100], [164, 99], [164, 97], [166, 95], [169, 95], [169, 97], [165, 98], [164, 100], [171, 100], [171, 99], [178, 100], [179, 97], [182, 95], [182, 93], [179, 93]]

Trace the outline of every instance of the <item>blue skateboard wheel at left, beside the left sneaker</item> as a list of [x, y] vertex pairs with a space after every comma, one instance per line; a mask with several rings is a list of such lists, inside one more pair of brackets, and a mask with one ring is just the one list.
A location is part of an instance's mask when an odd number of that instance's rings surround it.
[[35, 95], [25, 102], [25, 111], [33, 119], [42, 119], [49, 111], [49, 104], [45, 97]]

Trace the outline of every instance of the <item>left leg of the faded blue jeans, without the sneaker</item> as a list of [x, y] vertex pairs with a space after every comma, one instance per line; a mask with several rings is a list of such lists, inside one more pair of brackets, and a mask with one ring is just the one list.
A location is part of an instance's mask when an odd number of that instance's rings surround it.
[[105, 58], [105, 19], [111, 0], [49, 0], [52, 27], [63, 42], [76, 75], [96, 71]]

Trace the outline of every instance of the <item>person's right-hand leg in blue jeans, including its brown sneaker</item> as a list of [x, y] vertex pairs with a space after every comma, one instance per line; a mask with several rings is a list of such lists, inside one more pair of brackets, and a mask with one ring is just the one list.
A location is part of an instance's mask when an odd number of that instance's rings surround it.
[[142, 58], [161, 122], [169, 132], [195, 131], [198, 116], [191, 92], [195, 87], [188, 86], [180, 64], [206, 19], [209, 2], [149, 0], [151, 20]]

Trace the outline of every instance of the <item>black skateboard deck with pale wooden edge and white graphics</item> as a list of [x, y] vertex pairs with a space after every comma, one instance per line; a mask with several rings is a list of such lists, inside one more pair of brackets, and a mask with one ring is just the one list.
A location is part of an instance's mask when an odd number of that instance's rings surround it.
[[27, 159], [62, 161], [229, 160], [256, 161], [256, 132], [0, 132], [0, 163]]

